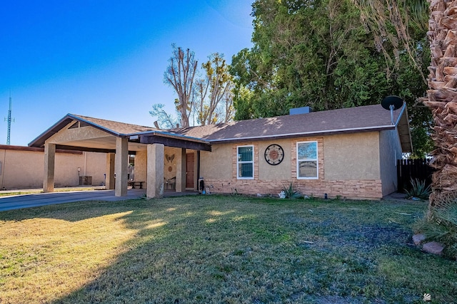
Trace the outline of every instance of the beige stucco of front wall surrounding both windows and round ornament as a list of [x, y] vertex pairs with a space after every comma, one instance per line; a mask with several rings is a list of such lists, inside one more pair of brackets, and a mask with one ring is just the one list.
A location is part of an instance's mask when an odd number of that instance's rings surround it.
[[[379, 166], [379, 136], [378, 132], [358, 134], [330, 135], [323, 139], [323, 173], [319, 179], [381, 179]], [[317, 138], [303, 138], [301, 140], [317, 140]], [[258, 157], [255, 166], [258, 169], [260, 180], [293, 179], [292, 145], [296, 140], [266, 140], [256, 142], [254, 153]], [[284, 159], [281, 164], [272, 166], [264, 157], [266, 147], [271, 144], [280, 145], [284, 150]], [[233, 178], [233, 149], [239, 144], [213, 145], [212, 152], [201, 152], [201, 176], [208, 179]], [[293, 152], [295, 153], [295, 152]], [[320, 170], [321, 171], [321, 170]]]

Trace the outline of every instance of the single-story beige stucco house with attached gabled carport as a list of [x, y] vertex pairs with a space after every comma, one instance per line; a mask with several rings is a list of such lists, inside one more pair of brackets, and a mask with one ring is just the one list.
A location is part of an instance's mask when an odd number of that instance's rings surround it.
[[[294, 114], [298, 112], [297, 114]], [[129, 154], [149, 198], [165, 190], [381, 199], [397, 190], [396, 161], [412, 152], [406, 104], [381, 105], [160, 130], [68, 114], [32, 141], [44, 147], [44, 191], [54, 190], [55, 150], [106, 153], [106, 187], [125, 196]]]

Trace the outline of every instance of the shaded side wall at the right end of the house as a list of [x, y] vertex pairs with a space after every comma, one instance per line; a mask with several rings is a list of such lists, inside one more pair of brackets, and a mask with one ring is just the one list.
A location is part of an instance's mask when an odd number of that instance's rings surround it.
[[[397, 159], [401, 159], [401, 142], [397, 130], [382, 131], [379, 134], [379, 151], [383, 195], [398, 189]], [[402, 189], [399, 189], [402, 190]]]

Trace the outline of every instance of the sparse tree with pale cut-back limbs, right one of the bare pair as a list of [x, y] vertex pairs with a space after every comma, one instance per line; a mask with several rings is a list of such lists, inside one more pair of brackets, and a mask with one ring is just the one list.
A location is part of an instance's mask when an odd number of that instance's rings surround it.
[[204, 70], [204, 78], [196, 82], [196, 108], [200, 125], [231, 120], [233, 81], [224, 56], [219, 53], [212, 54], [201, 68]]

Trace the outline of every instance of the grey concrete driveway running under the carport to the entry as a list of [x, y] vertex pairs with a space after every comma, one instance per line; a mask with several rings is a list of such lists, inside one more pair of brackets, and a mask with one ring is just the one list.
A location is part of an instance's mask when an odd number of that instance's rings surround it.
[[[127, 196], [115, 196], [114, 190], [51, 192], [3, 196], [0, 197], [0, 211], [52, 204], [64, 204], [72, 201], [123, 201], [126, 199], [139, 199], [145, 194], [145, 189], [129, 189], [127, 191]], [[168, 197], [192, 194], [198, 194], [198, 192], [165, 192], [164, 196]]]

